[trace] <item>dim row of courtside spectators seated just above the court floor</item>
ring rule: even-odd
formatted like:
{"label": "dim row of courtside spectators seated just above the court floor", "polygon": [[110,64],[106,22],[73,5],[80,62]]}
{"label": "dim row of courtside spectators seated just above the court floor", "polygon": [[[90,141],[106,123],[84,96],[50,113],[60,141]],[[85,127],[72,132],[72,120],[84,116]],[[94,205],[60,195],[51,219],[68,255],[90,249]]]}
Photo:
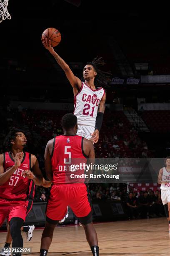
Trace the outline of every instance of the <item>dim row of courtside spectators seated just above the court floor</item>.
{"label": "dim row of courtside spectators seated just above the court floor", "polygon": [[[123,183],[113,184],[88,184],[92,202],[106,200],[120,200],[122,202],[127,218],[154,218],[165,216],[161,201],[160,189],[146,191],[129,187]],[[34,202],[47,201],[50,189],[37,187]]]}

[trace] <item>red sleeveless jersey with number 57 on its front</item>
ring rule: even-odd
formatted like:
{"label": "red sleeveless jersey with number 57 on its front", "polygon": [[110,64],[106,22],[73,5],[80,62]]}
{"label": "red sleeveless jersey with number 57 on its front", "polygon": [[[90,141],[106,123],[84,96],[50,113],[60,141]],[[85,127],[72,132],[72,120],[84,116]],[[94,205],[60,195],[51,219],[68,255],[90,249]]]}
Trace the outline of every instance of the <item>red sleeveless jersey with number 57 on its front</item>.
{"label": "red sleeveless jersey with number 57 on its front", "polygon": [[[14,159],[10,152],[4,153],[4,172],[14,165]],[[31,170],[31,154],[24,152],[21,165],[3,185],[0,186],[0,198],[7,200],[32,199],[35,184],[32,180],[23,175],[27,169]]]}

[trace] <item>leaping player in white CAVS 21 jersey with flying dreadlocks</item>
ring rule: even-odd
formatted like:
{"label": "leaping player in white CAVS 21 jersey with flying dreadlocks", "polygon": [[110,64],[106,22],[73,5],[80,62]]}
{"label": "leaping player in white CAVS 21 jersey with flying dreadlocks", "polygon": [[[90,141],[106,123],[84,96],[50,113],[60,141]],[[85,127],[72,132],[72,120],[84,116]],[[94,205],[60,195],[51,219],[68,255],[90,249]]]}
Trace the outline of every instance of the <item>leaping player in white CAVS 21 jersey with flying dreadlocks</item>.
{"label": "leaping player in white CAVS 21 jersey with flying dreadlocks", "polygon": [[78,120],[77,135],[91,139],[93,143],[97,143],[106,100],[106,93],[102,86],[105,86],[107,79],[110,77],[110,72],[103,72],[98,67],[104,65],[105,62],[101,58],[95,58],[92,62],[87,62],[83,69],[85,82],[82,82],[78,77],[75,77],[70,67],[54,51],[50,40],[47,42],[47,39],[43,38],[42,44],[54,56],[72,85],[75,107],[74,114]]}

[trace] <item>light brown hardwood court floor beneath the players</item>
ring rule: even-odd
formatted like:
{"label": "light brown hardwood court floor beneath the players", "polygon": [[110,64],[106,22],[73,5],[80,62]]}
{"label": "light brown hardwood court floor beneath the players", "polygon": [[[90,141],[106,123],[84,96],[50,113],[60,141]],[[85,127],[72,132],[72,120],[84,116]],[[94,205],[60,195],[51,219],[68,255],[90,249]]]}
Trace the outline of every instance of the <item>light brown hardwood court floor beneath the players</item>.
{"label": "light brown hardwood court floor beneath the players", "polygon": [[[97,231],[100,256],[167,256],[170,255],[170,235],[166,218],[128,220],[94,224]],[[30,242],[32,256],[39,256],[42,229],[36,229]],[[5,232],[0,233],[0,247],[4,245]],[[27,254],[28,255],[28,254]],[[55,228],[48,255],[92,256],[79,225]]]}

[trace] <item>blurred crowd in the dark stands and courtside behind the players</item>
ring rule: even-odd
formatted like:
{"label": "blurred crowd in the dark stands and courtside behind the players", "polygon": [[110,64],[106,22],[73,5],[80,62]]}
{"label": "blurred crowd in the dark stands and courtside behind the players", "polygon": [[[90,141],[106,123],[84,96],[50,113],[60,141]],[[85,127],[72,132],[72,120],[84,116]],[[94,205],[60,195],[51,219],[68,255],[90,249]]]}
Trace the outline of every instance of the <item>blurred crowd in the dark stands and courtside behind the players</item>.
{"label": "blurred crowd in the dark stands and courtside behind the players", "polygon": [[[24,129],[28,139],[28,150],[37,156],[43,176],[44,151],[47,141],[62,134],[61,118],[66,110],[30,110],[21,104],[17,109],[10,104],[0,109],[0,153],[4,152],[3,141],[10,127]],[[70,111],[72,112],[72,111]],[[107,132],[106,132],[107,131]],[[140,139],[138,131],[130,125],[123,111],[110,111],[106,108],[100,140],[95,145],[96,158],[150,158],[147,143]],[[146,191],[140,194],[128,189],[125,184],[89,184],[92,200],[121,200],[129,218],[141,218],[163,214],[160,192]],[[130,192],[130,193],[129,193]],[[37,187],[35,202],[47,201],[50,188]]]}

